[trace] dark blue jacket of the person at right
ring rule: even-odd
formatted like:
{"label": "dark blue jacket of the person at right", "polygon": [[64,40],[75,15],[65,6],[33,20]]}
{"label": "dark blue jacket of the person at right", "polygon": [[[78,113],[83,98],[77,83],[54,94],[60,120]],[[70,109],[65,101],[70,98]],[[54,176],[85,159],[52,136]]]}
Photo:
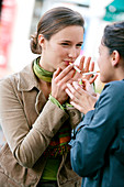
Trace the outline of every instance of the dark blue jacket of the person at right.
{"label": "dark blue jacket of the person at right", "polygon": [[70,145],[82,187],[124,187],[124,80],[105,85]]}

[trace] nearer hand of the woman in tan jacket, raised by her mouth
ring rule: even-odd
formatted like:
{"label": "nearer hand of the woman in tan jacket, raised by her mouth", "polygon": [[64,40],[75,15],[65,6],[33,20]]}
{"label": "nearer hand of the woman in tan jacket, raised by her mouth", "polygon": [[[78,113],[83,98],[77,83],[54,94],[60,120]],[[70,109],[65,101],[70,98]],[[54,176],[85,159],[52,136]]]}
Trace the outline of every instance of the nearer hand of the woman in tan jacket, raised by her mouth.
{"label": "nearer hand of the woman in tan jacket, raised by her mouth", "polygon": [[52,96],[63,105],[67,99],[68,95],[66,94],[65,89],[67,82],[72,82],[72,77],[76,70],[74,69],[72,65],[66,67],[63,72],[58,68],[52,79]]}

